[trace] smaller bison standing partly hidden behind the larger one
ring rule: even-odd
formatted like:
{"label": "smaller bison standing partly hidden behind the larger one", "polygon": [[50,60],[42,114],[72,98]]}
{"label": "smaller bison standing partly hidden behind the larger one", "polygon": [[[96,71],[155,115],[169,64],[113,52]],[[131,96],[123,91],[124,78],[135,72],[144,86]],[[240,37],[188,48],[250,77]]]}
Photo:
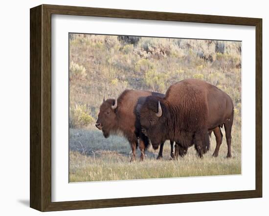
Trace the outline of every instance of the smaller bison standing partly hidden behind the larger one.
{"label": "smaller bison standing partly hidden behind the larger one", "polygon": [[[141,105],[147,96],[162,98],[164,94],[142,90],[125,90],[115,99],[103,100],[95,126],[103,131],[104,137],[110,134],[122,134],[130,143],[132,148],[131,161],[135,159],[135,150],[139,145],[141,151],[140,160],[144,159],[144,151],[149,146],[149,139],[141,133],[140,122],[136,115],[136,106]],[[139,144],[138,144],[139,139]],[[171,156],[174,156],[173,141],[171,145]],[[157,159],[162,157],[164,142],[160,143]]]}

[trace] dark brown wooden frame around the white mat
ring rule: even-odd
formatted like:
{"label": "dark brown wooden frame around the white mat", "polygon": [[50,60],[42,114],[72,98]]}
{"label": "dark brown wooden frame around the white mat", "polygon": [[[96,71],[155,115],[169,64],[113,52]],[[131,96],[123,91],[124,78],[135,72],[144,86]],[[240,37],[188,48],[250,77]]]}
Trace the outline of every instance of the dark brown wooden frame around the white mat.
{"label": "dark brown wooden frame around the white mat", "polygon": [[[255,26],[256,31],[256,188],[83,201],[51,201],[51,15]],[[262,19],[152,11],[40,5],[30,9],[30,207],[39,211],[137,206],[262,197]]]}

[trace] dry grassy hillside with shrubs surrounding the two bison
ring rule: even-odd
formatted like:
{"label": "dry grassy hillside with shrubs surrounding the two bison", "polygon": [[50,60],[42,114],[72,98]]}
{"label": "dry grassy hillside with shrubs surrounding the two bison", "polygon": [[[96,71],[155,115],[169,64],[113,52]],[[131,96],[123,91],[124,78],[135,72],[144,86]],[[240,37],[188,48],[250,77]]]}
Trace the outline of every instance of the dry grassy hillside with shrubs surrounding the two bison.
{"label": "dry grassy hillside with shrubs surrounding the two bison", "polygon": [[[70,34],[69,39],[70,181],[241,173],[240,42],[80,34]],[[130,164],[128,142],[121,137],[105,139],[95,129],[104,97],[116,98],[126,88],[165,93],[186,78],[205,80],[232,98],[231,160],[224,159],[225,138],[219,157],[211,157],[212,134],[212,152],[203,160],[191,148],[185,158],[169,161],[166,144],[163,160],[156,161],[157,152],[150,149],[145,163]]]}

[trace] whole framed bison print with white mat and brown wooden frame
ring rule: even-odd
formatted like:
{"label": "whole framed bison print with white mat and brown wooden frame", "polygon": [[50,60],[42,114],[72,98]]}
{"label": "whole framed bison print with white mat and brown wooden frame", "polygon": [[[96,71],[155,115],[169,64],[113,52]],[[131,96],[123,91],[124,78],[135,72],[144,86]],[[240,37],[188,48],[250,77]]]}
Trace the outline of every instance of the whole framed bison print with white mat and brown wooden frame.
{"label": "whole framed bison print with white mat and brown wooden frame", "polygon": [[30,207],[262,197],[262,19],[30,9]]}

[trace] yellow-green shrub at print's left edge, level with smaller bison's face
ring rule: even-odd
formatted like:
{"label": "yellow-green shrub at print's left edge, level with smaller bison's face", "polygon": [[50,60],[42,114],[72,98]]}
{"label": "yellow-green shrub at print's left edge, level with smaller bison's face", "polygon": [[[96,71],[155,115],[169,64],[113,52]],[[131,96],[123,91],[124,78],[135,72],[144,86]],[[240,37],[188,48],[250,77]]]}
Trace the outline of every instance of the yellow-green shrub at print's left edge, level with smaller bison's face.
{"label": "yellow-green shrub at print's left edge, level with smaller bison's face", "polygon": [[89,114],[86,105],[75,105],[69,108],[70,128],[82,128],[94,122]]}

